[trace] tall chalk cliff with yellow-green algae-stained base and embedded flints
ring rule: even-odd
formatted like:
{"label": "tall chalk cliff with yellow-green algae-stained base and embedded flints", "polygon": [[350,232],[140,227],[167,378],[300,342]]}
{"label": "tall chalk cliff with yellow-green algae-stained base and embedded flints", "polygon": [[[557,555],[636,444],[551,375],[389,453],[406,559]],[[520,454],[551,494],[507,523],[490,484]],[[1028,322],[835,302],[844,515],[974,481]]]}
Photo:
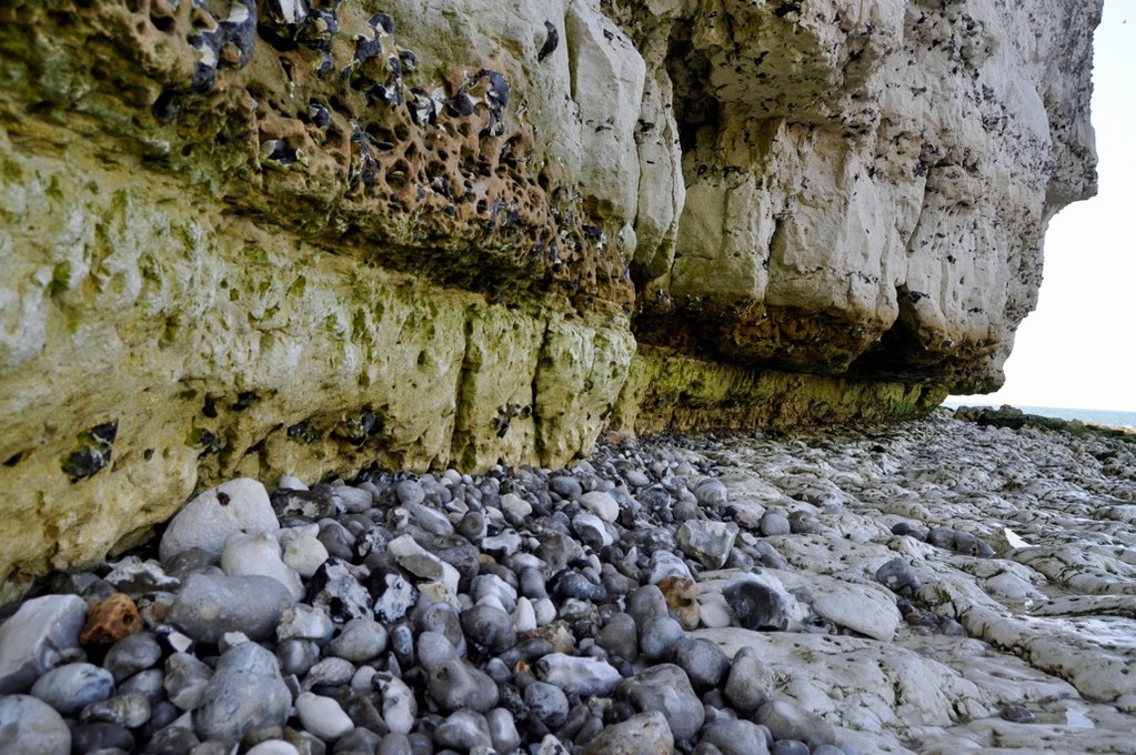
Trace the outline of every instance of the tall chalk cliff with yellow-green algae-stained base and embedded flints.
{"label": "tall chalk cliff with yellow-green algae-stained base and embedded flints", "polygon": [[0,598],[204,484],[995,388],[1099,0],[11,0]]}

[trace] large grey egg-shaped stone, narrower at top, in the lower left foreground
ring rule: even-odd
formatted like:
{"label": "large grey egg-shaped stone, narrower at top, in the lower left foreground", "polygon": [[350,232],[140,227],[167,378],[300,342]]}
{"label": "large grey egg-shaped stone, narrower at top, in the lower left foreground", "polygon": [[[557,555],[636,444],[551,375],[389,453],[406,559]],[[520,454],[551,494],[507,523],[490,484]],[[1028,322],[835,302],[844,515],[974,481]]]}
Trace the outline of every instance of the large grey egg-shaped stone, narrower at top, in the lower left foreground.
{"label": "large grey egg-shaped stone, narrower at top, in the lower left foreground", "polygon": [[284,725],[291,705],[276,656],[254,643],[243,643],[217,661],[200,706],[193,711],[193,725],[203,740],[235,741],[256,725]]}

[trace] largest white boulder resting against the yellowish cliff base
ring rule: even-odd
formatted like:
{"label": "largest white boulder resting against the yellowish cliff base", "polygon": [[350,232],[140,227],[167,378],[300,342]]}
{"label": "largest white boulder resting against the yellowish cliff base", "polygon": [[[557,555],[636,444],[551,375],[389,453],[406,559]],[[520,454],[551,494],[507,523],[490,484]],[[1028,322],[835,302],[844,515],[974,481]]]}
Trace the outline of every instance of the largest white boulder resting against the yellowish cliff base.
{"label": "largest white boulder resting against the yellowish cliff base", "polygon": [[242,477],[210,488],[185,504],[166,527],[158,555],[162,563],[194,547],[220,555],[229,535],[260,535],[277,526],[265,486]]}

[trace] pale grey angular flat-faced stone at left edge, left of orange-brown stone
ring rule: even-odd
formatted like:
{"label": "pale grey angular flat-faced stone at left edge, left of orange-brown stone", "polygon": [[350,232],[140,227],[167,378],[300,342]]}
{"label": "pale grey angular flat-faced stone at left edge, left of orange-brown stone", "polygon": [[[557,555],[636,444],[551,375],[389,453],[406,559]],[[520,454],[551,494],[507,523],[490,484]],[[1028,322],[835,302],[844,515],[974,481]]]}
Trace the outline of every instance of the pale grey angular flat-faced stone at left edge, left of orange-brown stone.
{"label": "pale grey angular flat-faced stone at left edge, left of orange-brown stone", "polygon": [[44,595],[20,605],[0,623],[0,695],[26,691],[44,671],[74,658],[85,621],[86,602],[77,595]]}

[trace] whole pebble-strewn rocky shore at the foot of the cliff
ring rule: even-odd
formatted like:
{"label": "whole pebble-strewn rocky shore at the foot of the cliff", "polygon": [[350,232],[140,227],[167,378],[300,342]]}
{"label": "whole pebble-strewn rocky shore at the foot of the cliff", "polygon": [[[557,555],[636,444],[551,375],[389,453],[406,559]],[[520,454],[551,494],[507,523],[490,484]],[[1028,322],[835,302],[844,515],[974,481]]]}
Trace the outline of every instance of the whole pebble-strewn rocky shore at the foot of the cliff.
{"label": "whole pebble-strewn rocky shore at the foot of the cliff", "polygon": [[1136,438],[980,416],[229,480],[8,606],[0,750],[1136,752]]}

